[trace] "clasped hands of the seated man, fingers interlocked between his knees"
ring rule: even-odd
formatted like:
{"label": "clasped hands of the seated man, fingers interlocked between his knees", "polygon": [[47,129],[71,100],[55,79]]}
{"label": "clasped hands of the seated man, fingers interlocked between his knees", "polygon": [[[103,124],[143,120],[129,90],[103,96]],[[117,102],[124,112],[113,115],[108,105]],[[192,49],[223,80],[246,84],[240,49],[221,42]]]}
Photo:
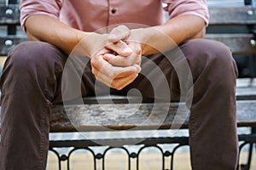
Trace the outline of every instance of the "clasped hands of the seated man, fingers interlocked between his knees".
{"label": "clasped hands of the seated man, fingers interlocked between his knees", "polygon": [[92,73],[110,88],[125,88],[141,71],[141,44],[131,40],[131,31],[126,26],[113,28],[102,44],[90,56]]}

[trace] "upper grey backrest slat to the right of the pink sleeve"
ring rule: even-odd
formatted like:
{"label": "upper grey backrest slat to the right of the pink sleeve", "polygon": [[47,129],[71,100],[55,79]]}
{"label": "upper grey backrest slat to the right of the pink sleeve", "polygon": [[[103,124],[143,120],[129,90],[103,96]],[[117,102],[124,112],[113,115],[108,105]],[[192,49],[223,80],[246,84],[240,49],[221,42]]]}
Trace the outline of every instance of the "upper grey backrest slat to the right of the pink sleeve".
{"label": "upper grey backrest slat to the right of the pink sleeve", "polygon": [[210,25],[253,25],[256,22],[252,6],[209,8]]}

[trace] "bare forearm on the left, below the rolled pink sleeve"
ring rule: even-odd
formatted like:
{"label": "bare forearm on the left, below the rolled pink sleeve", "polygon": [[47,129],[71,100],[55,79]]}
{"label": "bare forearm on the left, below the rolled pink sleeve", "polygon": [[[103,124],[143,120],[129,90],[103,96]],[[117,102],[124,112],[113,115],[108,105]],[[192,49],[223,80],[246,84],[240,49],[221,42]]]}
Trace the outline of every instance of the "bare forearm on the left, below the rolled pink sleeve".
{"label": "bare forearm on the left, below the rolled pink sleeve", "polygon": [[[84,37],[90,35],[90,32],[73,29],[44,14],[32,15],[26,20],[25,26],[30,40],[49,42],[66,54],[70,54]],[[90,54],[88,50],[84,50],[84,53]]]}

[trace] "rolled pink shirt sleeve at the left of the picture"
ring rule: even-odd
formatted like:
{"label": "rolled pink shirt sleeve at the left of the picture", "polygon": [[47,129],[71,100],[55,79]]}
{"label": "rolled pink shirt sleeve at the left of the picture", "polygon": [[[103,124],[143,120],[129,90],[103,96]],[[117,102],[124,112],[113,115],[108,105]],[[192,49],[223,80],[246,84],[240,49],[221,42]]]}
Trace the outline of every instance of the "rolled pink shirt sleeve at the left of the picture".
{"label": "rolled pink shirt sleeve at the left of the picture", "polygon": [[26,19],[33,14],[47,14],[59,19],[62,0],[20,0],[20,25],[24,29]]}

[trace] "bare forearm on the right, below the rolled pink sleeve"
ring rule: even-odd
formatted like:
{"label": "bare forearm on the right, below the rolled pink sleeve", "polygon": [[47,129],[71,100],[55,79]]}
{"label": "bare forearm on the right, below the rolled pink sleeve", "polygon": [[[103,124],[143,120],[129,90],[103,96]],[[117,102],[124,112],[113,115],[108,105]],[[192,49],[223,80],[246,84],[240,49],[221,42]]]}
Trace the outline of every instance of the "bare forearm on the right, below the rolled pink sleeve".
{"label": "bare forearm on the right, below the rolled pink sleeve", "polygon": [[175,47],[189,39],[205,35],[205,22],[195,15],[178,16],[164,25],[131,31],[142,43],[143,54],[154,54]]}

